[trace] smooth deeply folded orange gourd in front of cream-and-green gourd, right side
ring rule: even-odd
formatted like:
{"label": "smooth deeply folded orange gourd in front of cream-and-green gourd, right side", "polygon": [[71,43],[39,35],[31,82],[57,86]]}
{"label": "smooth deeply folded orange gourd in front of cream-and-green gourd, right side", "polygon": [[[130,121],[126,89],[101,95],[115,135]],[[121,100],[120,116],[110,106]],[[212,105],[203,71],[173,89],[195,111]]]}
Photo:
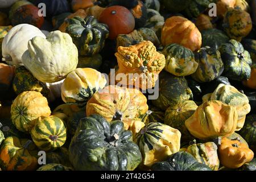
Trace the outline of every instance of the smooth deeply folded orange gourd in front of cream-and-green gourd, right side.
{"label": "smooth deeply folded orange gourd in front of cream-and-green gourd, right side", "polygon": [[194,137],[207,140],[233,134],[237,119],[236,107],[221,101],[207,101],[197,107],[195,113],[185,121],[185,126]]}

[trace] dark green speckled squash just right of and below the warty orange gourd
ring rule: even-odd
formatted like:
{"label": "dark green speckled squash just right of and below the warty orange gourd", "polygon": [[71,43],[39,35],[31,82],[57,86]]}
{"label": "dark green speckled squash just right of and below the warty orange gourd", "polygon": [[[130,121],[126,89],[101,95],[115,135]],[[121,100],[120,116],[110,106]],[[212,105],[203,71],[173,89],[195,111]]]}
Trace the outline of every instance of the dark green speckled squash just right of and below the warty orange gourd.
{"label": "dark green speckled squash just right of and below the warty orange gourd", "polygon": [[162,71],[159,74],[159,97],[152,104],[165,111],[170,105],[180,100],[191,100],[193,94],[184,77]]}

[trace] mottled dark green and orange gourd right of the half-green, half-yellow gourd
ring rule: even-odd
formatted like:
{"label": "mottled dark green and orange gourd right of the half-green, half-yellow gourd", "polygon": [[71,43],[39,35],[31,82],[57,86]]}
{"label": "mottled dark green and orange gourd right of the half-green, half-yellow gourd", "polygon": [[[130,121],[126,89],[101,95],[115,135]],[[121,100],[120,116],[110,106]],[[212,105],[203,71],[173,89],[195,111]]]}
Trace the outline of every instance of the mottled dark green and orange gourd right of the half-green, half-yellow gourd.
{"label": "mottled dark green and orange gourd right of the half-green, half-yellow gourd", "polygon": [[199,63],[199,66],[191,76],[198,82],[212,81],[224,71],[221,54],[215,48],[201,48],[195,53],[195,60]]}

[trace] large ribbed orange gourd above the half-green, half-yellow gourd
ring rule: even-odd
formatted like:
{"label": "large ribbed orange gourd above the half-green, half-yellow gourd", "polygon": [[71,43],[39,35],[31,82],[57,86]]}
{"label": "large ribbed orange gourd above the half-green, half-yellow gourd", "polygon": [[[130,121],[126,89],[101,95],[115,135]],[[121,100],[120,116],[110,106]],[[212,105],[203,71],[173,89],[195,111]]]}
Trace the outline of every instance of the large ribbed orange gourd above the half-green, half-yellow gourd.
{"label": "large ribbed orange gourd above the half-green, half-yellow gourd", "polygon": [[201,48],[202,36],[194,23],[182,16],[172,16],[164,22],[162,28],[162,44],[180,44],[192,51]]}

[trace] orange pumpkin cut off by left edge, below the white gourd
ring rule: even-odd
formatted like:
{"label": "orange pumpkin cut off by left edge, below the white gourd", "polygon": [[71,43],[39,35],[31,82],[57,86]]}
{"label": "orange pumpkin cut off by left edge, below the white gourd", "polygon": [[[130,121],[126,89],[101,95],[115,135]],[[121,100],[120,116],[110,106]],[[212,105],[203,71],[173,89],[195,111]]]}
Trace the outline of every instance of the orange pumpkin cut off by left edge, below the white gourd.
{"label": "orange pumpkin cut off by left edge, below the white gourd", "polygon": [[0,63],[0,92],[7,92],[15,75],[15,67]]}

